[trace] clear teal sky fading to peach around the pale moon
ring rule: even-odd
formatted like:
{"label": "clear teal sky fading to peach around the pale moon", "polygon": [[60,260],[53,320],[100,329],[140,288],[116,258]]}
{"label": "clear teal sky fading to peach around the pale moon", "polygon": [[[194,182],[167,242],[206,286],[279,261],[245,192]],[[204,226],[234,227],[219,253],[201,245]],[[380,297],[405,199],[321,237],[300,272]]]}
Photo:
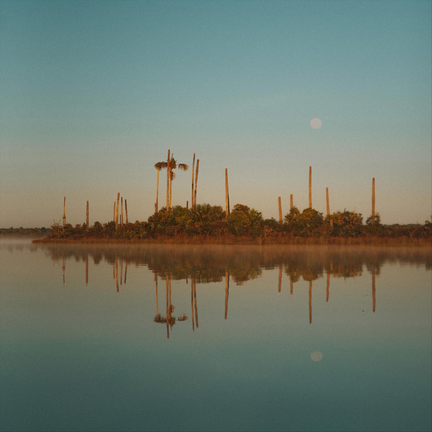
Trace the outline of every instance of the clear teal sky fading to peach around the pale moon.
{"label": "clear teal sky fading to peach around the pale moon", "polygon": [[[197,203],[432,214],[430,1],[0,1],[0,227]],[[313,118],[322,126],[314,129]],[[159,182],[165,205],[166,172]],[[191,201],[191,168],[172,205]]]}

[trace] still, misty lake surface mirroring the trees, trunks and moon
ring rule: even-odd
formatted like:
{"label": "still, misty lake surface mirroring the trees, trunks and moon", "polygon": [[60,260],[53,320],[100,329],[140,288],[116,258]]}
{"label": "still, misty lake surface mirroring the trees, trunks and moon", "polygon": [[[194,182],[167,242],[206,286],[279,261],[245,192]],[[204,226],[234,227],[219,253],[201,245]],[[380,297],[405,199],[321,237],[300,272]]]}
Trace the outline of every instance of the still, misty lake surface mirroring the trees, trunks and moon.
{"label": "still, misty lake surface mirroring the trees, trunks and moon", "polygon": [[3,431],[429,431],[429,248],[0,243]]}

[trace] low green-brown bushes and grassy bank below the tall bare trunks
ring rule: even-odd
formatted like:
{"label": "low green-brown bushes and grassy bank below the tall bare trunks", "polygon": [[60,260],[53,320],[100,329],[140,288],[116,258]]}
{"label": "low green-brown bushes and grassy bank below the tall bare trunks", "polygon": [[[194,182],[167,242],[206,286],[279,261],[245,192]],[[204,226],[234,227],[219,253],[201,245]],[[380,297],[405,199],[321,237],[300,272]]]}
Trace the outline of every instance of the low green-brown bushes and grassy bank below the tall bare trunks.
{"label": "low green-brown bushes and grassy bank below the tall bare trunks", "polygon": [[[149,217],[147,222],[136,221],[118,225],[115,222],[95,222],[88,227],[86,224],[66,224],[64,228],[55,223],[47,230],[47,238],[51,239],[157,239],[157,238],[187,238],[187,237],[249,237],[249,238],[425,238],[432,235],[432,224],[426,221],[424,225],[382,225],[380,216],[372,216],[363,223],[361,213],[354,211],[338,211],[323,216],[313,208],[302,212],[295,206],[280,223],[274,218],[263,219],[262,213],[242,204],[236,204],[226,217],[221,206],[198,204],[193,209],[175,206],[167,213],[162,207],[158,213]],[[288,242],[288,241],[281,241]],[[258,241],[259,243],[259,241]]]}

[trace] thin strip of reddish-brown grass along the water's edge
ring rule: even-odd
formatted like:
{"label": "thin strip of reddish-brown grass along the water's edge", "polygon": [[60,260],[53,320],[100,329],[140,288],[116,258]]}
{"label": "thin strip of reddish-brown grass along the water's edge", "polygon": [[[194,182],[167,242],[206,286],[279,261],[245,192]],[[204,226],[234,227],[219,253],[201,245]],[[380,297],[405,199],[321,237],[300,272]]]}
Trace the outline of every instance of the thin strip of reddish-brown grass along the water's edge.
{"label": "thin strip of reddish-brown grass along the water's edge", "polygon": [[390,246],[390,247],[432,247],[432,238],[392,237],[158,237],[143,239],[123,238],[37,238],[35,244],[176,244],[176,245],[339,245],[339,246]]}

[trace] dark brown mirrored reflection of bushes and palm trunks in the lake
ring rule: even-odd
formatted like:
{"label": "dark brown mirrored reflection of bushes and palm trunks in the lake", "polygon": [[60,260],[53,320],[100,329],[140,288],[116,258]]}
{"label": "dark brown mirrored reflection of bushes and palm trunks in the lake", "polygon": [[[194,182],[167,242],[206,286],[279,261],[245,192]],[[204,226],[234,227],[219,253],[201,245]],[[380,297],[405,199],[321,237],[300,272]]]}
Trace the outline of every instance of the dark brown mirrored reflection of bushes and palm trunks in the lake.
{"label": "dark brown mirrored reflection of bushes and palm trunks in the lake", "polygon": [[[21,247],[21,246],[20,246]],[[428,248],[359,248],[359,247],[256,247],[256,246],[107,246],[107,245],[59,245],[41,246],[45,254],[61,266],[63,283],[67,260],[82,262],[88,283],[89,259],[93,264],[108,263],[112,266],[117,292],[127,281],[128,266],[146,266],[154,273],[156,291],[156,315],[154,321],[166,325],[167,337],[176,323],[191,318],[192,331],[198,328],[197,284],[222,282],[225,279],[225,319],[228,318],[229,279],[236,285],[253,280],[263,269],[278,269],[277,291],[281,292],[283,275],[288,276],[290,294],[294,284],[304,280],[309,284],[309,323],[312,323],[313,281],[326,278],[326,302],[330,299],[332,278],[351,278],[371,274],[372,304],[376,311],[376,281],[381,267],[386,263],[411,264],[432,268],[432,254]],[[13,248],[9,249],[13,252]],[[32,251],[35,247],[32,246]],[[67,273],[67,270],[66,270]],[[277,278],[277,276],[275,276]],[[191,316],[175,316],[172,304],[172,280],[191,283]],[[161,314],[158,299],[158,281],[165,282],[165,314]],[[275,280],[276,286],[276,280]],[[223,300],[222,300],[223,301]],[[184,324],[181,324],[184,325]]]}

